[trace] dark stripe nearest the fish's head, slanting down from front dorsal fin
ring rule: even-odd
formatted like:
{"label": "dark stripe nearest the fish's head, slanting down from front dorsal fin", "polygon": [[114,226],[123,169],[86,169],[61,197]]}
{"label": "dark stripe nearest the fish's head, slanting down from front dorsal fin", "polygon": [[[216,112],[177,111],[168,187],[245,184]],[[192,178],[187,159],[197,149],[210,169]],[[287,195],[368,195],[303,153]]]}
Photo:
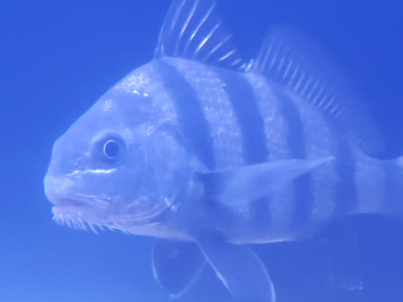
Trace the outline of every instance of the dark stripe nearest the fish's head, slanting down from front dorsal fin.
{"label": "dark stripe nearest the fish's head, slanting down from front dorsal fin", "polygon": [[158,60],[162,85],[172,100],[180,129],[194,155],[210,170],[216,168],[213,137],[200,101],[182,74],[168,63]]}

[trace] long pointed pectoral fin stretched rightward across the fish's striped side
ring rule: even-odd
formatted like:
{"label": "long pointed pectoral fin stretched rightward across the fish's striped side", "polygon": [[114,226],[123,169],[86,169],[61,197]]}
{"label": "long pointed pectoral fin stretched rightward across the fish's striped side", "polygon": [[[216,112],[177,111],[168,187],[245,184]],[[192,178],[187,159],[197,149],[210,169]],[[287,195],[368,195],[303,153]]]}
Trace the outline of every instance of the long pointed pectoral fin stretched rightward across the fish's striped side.
{"label": "long pointed pectoral fin stretched rightward across the fish's striped side", "polygon": [[333,159],[279,160],[199,173],[197,178],[203,183],[207,198],[223,203],[244,202],[267,196],[287,182]]}

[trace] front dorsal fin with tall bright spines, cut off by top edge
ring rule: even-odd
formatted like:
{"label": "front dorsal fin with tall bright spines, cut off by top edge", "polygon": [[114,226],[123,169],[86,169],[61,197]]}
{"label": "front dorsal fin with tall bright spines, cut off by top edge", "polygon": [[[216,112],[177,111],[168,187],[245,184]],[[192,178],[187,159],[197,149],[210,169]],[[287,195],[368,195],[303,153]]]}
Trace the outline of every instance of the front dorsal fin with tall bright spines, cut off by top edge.
{"label": "front dorsal fin with tall bright spines, cut off by top edge", "polygon": [[174,0],[162,25],[155,58],[181,57],[238,69],[245,66],[231,45],[213,0]]}

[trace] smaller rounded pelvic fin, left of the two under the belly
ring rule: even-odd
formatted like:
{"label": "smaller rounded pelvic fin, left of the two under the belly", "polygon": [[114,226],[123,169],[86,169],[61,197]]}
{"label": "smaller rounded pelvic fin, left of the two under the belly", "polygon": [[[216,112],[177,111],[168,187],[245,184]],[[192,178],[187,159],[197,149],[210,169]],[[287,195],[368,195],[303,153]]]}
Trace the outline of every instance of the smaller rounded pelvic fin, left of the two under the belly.
{"label": "smaller rounded pelvic fin, left of the two under the belly", "polygon": [[154,277],[171,297],[185,293],[206,263],[195,243],[160,238],[155,239],[152,261]]}

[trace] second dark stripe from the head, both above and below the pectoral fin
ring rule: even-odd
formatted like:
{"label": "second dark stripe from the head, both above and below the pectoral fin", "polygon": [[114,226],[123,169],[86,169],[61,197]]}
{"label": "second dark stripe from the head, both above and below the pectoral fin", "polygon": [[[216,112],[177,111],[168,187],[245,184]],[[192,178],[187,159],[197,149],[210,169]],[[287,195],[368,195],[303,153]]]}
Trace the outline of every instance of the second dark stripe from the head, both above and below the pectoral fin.
{"label": "second dark stripe from the head, both above and below the pectoral fin", "polygon": [[[242,134],[242,154],[245,164],[268,160],[263,116],[257,105],[253,88],[241,73],[214,68],[231,102]],[[250,188],[253,190],[253,188]],[[266,232],[271,221],[270,198],[253,200],[249,206],[250,225],[254,232]]]}

